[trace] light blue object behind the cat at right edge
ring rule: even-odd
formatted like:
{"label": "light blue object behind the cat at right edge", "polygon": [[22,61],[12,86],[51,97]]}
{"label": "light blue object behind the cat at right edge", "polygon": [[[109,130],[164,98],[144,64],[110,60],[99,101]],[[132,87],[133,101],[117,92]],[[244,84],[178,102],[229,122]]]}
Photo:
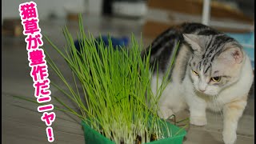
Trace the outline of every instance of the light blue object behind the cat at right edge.
{"label": "light blue object behind the cat at right edge", "polygon": [[244,34],[228,33],[227,35],[237,40],[243,46],[254,69],[254,32]]}

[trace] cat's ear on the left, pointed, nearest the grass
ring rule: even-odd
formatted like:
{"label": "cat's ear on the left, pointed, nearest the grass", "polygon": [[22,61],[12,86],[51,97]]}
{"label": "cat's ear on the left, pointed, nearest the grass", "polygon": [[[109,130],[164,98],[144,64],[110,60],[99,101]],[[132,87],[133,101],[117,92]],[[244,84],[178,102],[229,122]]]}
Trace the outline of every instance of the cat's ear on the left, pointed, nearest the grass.
{"label": "cat's ear on the left, pointed, nearest the grass", "polygon": [[200,36],[195,34],[182,34],[184,40],[190,44],[191,48],[196,52],[201,52],[202,47],[200,46]]}

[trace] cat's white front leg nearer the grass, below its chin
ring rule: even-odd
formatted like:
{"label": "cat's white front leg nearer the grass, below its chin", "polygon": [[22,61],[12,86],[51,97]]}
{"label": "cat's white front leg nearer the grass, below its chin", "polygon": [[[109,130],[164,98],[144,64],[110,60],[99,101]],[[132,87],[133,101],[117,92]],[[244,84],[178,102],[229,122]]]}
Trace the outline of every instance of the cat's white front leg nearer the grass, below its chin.
{"label": "cat's white front leg nearer the grass, below its chin", "polygon": [[201,98],[194,97],[188,102],[190,106],[190,124],[195,126],[205,126],[206,119],[206,102]]}

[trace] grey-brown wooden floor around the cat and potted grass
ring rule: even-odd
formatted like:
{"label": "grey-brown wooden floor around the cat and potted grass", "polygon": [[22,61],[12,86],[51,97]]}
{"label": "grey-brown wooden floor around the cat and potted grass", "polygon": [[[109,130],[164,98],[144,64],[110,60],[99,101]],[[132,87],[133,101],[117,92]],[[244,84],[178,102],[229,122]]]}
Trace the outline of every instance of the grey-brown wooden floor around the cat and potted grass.
{"label": "grey-brown wooden floor around the cat and potted grass", "polygon": [[[110,33],[114,36],[130,35],[134,32],[140,38],[142,23],[136,20],[123,20],[121,18],[98,18],[85,17],[84,25],[94,36],[99,33]],[[41,21],[42,34],[49,36],[57,46],[64,46],[65,40],[62,35],[62,27],[67,24],[70,32],[75,35],[78,30],[77,22],[66,22],[65,20]],[[25,102],[12,95],[23,95],[34,98],[33,81],[30,77],[30,67],[27,60],[25,38],[2,37],[2,143],[4,144],[46,144],[46,124],[41,121],[41,113],[37,112],[37,105]],[[46,51],[52,55],[54,61],[60,64],[66,78],[70,78],[70,71],[64,65],[64,61],[54,52],[52,47],[44,41]],[[145,44],[150,39],[143,39]],[[62,86],[63,84],[49,70],[51,82]],[[62,98],[62,94],[50,86],[52,95]],[[35,99],[35,98],[34,98]],[[254,143],[254,89],[252,90],[246,111],[238,126],[237,144]],[[57,102],[51,100],[57,106]],[[78,118],[54,110],[57,115],[53,123],[53,143],[59,144],[82,144],[84,142],[83,130]],[[187,117],[188,113],[182,113]],[[186,135],[185,144],[221,144],[222,142],[222,117],[220,114],[207,112],[207,126],[190,126]]]}

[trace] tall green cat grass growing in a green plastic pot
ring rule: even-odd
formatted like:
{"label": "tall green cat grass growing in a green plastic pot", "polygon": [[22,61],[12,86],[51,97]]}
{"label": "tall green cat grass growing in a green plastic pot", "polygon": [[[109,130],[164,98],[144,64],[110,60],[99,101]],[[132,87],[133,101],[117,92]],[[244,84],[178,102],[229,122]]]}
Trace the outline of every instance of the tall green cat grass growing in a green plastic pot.
{"label": "tall green cat grass growing in a green plastic pot", "polygon": [[[111,41],[105,46],[90,34],[85,34],[81,15],[80,50],[74,46],[67,28],[63,32],[67,43],[65,52],[45,38],[66,60],[75,88],[64,78],[47,50],[46,61],[67,89],[54,82],[51,84],[74,102],[80,112],[70,108],[61,98],[52,97],[63,106],[56,109],[81,119],[86,143],[182,143],[186,135],[184,128],[163,121],[157,114],[158,99],[168,82],[167,76],[163,78],[158,94],[154,95],[150,88],[150,54],[141,57],[142,46],[134,37],[128,48],[115,50]],[[82,88],[82,93],[78,87]]]}

